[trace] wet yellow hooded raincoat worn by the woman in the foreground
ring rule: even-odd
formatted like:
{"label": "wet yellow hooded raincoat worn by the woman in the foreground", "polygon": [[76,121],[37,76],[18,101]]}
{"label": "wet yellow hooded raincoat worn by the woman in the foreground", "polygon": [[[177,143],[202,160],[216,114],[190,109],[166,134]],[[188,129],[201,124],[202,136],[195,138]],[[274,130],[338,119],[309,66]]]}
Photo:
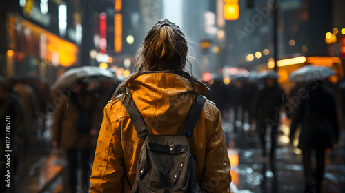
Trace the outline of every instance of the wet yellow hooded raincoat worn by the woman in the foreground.
{"label": "wet yellow hooded raincoat worn by the woman in the foreground", "polygon": [[[128,83],[128,88],[152,134],[182,135],[193,102],[193,83],[177,74],[158,72],[141,74]],[[209,90],[197,83],[195,91],[203,94]],[[204,103],[188,142],[196,158],[201,191],[230,192],[230,161],[220,113],[214,103]],[[130,192],[142,143],[121,101],[110,101],[104,108],[90,192]]]}

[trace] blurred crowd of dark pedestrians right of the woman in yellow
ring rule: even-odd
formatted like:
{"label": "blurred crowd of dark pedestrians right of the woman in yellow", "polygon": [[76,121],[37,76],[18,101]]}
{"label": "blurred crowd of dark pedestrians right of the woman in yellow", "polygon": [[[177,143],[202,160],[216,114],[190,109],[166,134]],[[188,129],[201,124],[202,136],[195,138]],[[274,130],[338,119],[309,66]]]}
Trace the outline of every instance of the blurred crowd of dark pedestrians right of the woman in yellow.
{"label": "blurred crowd of dark pedestrians right of the woman in yellow", "polygon": [[[270,147],[269,160],[275,172],[274,158],[277,133],[282,117],[290,123],[290,143],[295,141],[295,132],[300,129],[299,144],[306,179],[306,192],[320,192],[324,174],[324,158],[327,148],[335,148],[339,139],[339,125],[344,117],[344,83],[333,85],[327,79],[306,83],[295,83],[286,93],[277,79],[233,79],[229,85],[214,81],[210,85],[208,98],[215,102],[224,119],[230,110],[235,111],[233,126],[242,133],[255,125],[255,134],[261,141],[262,158]],[[218,84],[218,85],[215,85]],[[221,92],[219,92],[221,90]],[[219,95],[219,93],[222,93]],[[337,114],[342,111],[342,116]],[[284,115],[282,115],[284,114]],[[254,128],[254,127],[253,127]],[[270,145],[266,145],[266,130],[270,131]],[[311,157],[315,152],[316,168],[313,170]]]}

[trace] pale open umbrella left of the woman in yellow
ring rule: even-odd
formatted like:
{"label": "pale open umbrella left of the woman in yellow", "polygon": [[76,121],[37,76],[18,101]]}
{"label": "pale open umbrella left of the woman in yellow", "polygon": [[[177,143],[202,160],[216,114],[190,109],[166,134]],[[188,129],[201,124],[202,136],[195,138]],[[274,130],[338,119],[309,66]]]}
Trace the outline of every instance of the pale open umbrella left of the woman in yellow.
{"label": "pale open umbrella left of the woman in yellow", "polygon": [[76,81],[83,81],[84,83],[102,82],[102,81],[117,81],[115,74],[108,70],[101,69],[96,66],[83,66],[79,68],[72,68],[55,81],[51,90],[68,88],[70,83]]}

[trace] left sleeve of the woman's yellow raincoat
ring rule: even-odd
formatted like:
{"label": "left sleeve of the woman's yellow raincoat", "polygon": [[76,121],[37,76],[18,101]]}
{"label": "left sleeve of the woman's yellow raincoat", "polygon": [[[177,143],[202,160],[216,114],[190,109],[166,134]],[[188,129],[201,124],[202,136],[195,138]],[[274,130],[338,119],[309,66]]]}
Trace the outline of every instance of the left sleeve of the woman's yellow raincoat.
{"label": "left sleeve of the woman's yellow raincoat", "polygon": [[[115,128],[116,129],[116,128]],[[95,159],[90,177],[92,192],[121,192],[124,174],[123,157],[119,136],[110,121],[110,106],[104,108],[104,117],[97,140]]]}

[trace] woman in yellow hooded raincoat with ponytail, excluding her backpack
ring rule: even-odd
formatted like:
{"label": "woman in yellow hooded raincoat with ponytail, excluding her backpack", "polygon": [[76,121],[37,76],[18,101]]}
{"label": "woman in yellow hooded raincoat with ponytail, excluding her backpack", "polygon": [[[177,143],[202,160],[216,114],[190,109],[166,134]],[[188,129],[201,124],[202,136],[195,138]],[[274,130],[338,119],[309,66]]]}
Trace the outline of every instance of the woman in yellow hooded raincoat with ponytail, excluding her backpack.
{"label": "woman in yellow hooded raincoat with ponytail, excluding her backpack", "polygon": [[[151,134],[181,135],[195,94],[208,92],[203,83],[184,72],[188,60],[186,37],[175,23],[163,19],[150,29],[142,45],[135,74],[122,86],[128,86]],[[116,94],[122,92],[117,89]],[[90,192],[131,191],[143,144],[136,133],[126,108],[114,97],[104,108]],[[224,131],[219,110],[210,101],[204,103],[188,142],[196,158],[201,190],[230,192],[230,161]]]}

